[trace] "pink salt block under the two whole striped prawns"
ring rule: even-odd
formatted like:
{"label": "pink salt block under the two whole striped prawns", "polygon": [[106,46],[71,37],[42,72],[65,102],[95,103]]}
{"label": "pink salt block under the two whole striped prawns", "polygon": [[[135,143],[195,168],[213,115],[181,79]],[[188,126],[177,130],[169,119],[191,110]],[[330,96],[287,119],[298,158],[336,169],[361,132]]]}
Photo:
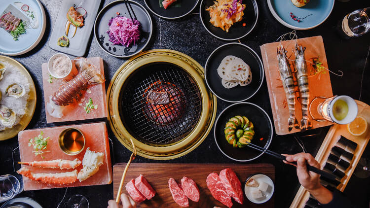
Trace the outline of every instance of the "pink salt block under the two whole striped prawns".
{"label": "pink salt block under the two whole striped prawns", "polygon": [[[281,44],[284,46],[285,50],[288,51],[287,57],[290,60],[295,59],[294,47],[296,45],[296,41],[298,42],[298,44],[301,44],[303,47],[306,47],[305,59],[307,60],[306,64],[308,73],[308,87],[310,90],[309,98],[310,102],[315,97],[319,96],[323,96],[326,98],[332,97],[333,90],[332,83],[330,82],[329,71],[326,71],[325,73],[322,73],[320,75],[313,75],[311,72],[313,67],[312,64],[309,63],[312,62],[312,58],[318,57],[322,63],[322,66],[330,69],[330,67],[328,67],[328,62],[326,60],[323,37],[314,36],[299,38],[297,40],[282,41]],[[278,71],[278,61],[276,55],[276,49],[279,45],[280,45],[279,42],[272,42],[263,44],[260,46],[260,48],[263,66],[266,74],[266,82],[268,87],[268,94],[270,97],[272,115],[274,117],[275,131],[277,135],[286,135],[299,132],[300,129],[293,128],[291,132],[288,131],[289,109],[288,105],[286,104],[286,96],[283,88],[283,83],[280,79],[280,74]],[[290,64],[292,64],[292,61],[290,61]],[[302,111],[300,102],[297,99],[299,97],[298,87],[295,86],[295,89],[296,89],[296,119],[300,124],[300,120],[302,118]],[[322,102],[323,100],[320,101]],[[312,111],[315,110],[316,110],[315,106],[312,106]],[[328,121],[317,122],[315,120],[312,120],[310,115],[308,115],[308,117],[310,118],[314,129],[332,125],[331,122]]]}

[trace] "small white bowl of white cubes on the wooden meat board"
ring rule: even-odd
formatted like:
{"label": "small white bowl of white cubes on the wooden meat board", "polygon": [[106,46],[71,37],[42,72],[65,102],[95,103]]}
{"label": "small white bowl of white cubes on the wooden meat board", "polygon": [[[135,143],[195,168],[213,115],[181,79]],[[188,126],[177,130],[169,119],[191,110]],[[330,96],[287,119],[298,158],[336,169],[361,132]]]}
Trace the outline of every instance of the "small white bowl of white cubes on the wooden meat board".
{"label": "small white bowl of white cubes on the wooden meat board", "polygon": [[[253,199],[252,198],[252,194],[251,194],[252,189],[258,189],[258,187],[247,186],[247,182],[252,178],[255,179],[259,183],[263,181],[263,182],[268,184],[269,187],[268,187],[267,191],[262,192],[262,194],[264,195],[263,198],[259,198],[259,199]],[[265,174],[254,174],[254,175],[250,176],[249,178],[247,178],[247,180],[244,183],[244,194],[245,194],[245,196],[248,198],[249,201],[251,201],[255,204],[262,204],[262,203],[265,203],[268,200],[270,200],[272,195],[274,194],[274,190],[275,190],[274,182],[271,180],[271,178],[269,176],[267,176]]]}

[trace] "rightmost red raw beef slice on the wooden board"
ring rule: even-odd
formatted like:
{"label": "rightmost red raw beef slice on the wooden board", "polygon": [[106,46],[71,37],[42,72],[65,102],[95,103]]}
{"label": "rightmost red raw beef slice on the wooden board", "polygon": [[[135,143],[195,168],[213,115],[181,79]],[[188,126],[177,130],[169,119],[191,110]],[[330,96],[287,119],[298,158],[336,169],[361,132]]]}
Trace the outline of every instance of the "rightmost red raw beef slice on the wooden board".
{"label": "rightmost red raw beef slice on the wooden board", "polygon": [[235,172],[230,168],[223,169],[220,172],[220,179],[225,187],[228,195],[232,197],[237,203],[243,204],[242,184],[236,176]]}

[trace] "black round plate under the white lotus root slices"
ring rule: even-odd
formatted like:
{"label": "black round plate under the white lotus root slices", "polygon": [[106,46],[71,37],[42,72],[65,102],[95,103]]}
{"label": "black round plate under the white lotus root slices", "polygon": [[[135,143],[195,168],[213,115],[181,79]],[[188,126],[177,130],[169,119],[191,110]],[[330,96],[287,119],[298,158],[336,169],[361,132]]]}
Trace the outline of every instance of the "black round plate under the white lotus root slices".
{"label": "black round plate under the white lotus root slices", "polygon": [[[237,85],[226,89],[222,86],[222,78],[217,73],[221,61],[226,56],[236,56],[248,64],[252,71],[252,83],[247,86]],[[238,103],[254,96],[262,85],[264,70],[257,53],[250,47],[241,43],[227,43],[218,47],[208,57],[205,69],[206,83],[213,94],[223,101]]]}

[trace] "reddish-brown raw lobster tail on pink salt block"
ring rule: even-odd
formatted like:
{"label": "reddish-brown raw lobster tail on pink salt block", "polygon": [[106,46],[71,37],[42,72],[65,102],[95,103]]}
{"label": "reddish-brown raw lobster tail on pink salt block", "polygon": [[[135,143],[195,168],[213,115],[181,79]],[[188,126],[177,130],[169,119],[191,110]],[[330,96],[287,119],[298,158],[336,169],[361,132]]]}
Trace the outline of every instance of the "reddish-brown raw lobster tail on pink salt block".
{"label": "reddish-brown raw lobster tail on pink salt block", "polygon": [[86,90],[91,85],[100,84],[105,81],[100,69],[90,64],[85,58],[77,58],[74,61],[78,74],[70,81],[64,83],[54,93],[51,100],[56,105],[69,105],[78,100],[81,91]]}

